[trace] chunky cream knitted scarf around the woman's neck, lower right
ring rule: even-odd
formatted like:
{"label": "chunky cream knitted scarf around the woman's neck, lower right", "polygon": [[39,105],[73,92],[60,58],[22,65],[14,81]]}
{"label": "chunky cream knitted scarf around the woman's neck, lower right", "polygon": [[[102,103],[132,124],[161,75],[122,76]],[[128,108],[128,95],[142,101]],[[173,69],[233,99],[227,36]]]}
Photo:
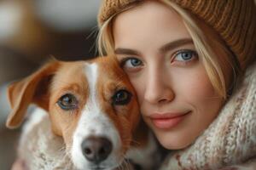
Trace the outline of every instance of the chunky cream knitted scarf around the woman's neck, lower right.
{"label": "chunky cream knitted scarf around the woman's neck, lower right", "polygon": [[172,152],[161,170],[256,169],[255,63],[232,95],[195,143]]}

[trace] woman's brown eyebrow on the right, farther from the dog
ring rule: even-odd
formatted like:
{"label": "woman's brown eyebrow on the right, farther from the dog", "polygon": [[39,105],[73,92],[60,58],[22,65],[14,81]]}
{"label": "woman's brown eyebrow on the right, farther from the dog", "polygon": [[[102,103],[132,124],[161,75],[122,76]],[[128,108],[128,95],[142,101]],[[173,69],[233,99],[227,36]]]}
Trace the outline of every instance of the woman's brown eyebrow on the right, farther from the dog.
{"label": "woman's brown eyebrow on the right, farther from the dog", "polygon": [[177,48],[189,43],[193,43],[193,40],[191,38],[183,38],[183,39],[175,40],[173,42],[168,42],[160,48],[160,52],[166,53],[169,50],[172,50],[174,48]]}

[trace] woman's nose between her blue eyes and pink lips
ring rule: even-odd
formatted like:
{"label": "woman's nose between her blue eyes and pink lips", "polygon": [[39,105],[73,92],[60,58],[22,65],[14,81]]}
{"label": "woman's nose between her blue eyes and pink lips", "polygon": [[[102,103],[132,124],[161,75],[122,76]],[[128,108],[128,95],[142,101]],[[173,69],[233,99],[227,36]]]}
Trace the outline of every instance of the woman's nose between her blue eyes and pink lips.
{"label": "woman's nose between her blue eyes and pink lips", "polygon": [[160,74],[151,74],[145,83],[144,99],[152,104],[165,104],[174,99],[172,84],[168,77]]}

